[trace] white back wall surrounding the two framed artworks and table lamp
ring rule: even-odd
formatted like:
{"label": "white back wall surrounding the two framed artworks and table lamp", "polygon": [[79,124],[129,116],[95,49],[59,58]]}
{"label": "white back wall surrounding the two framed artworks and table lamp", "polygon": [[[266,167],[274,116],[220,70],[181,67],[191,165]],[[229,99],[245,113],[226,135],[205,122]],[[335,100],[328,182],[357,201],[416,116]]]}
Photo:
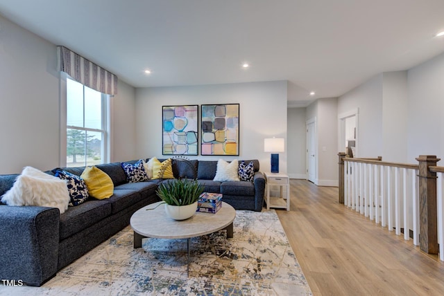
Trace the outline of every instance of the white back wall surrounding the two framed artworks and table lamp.
{"label": "white back wall surrounding the two framed artworks and table lamp", "polygon": [[[239,103],[239,156],[189,156],[190,159],[258,159],[270,170],[264,138],[285,138],[287,145],[287,82],[251,82],[205,86],[155,87],[136,90],[137,156],[162,156],[162,106]],[[199,136],[200,139],[200,136]],[[280,153],[280,171],[287,172],[287,150]],[[200,151],[200,148],[199,148]]]}

